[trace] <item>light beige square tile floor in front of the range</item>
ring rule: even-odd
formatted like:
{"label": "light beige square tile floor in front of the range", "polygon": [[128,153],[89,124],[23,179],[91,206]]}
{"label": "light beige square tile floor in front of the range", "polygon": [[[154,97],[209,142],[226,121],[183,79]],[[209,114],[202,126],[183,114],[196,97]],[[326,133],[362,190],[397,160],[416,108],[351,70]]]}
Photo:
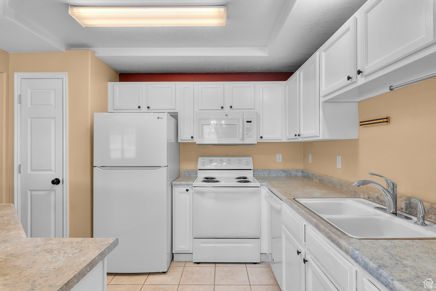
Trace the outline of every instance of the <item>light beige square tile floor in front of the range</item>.
{"label": "light beige square tile floor in front of the range", "polygon": [[167,273],[108,273],[107,291],[280,291],[271,266],[171,262]]}

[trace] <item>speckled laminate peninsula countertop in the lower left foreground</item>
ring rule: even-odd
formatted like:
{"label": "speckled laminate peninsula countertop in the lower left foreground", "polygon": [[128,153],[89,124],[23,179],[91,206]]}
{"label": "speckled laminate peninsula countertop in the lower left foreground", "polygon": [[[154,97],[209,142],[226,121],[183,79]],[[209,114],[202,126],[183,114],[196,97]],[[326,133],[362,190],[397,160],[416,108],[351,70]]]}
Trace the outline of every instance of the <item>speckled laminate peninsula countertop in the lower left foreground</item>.
{"label": "speckled laminate peninsula countertop in the lower left foreground", "polygon": [[14,205],[0,204],[0,290],[71,290],[117,245],[113,238],[27,238]]}

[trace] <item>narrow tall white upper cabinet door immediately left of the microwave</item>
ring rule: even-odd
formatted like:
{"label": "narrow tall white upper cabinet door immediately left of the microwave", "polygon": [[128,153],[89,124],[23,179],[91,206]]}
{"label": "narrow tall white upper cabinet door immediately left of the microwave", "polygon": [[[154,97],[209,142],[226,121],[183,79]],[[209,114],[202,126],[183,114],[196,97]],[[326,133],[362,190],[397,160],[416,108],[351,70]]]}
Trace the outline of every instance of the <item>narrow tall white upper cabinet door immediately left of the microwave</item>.
{"label": "narrow tall white upper cabinet door immediately left of the microwave", "polygon": [[195,142],[194,84],[180,84],[179,141]]}

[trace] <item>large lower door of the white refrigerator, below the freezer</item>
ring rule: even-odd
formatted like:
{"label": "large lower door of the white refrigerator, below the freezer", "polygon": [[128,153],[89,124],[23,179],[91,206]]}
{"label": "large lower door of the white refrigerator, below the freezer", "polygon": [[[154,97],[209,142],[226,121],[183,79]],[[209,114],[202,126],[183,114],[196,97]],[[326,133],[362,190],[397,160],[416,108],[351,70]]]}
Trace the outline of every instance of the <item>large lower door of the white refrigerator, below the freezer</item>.
{"label": "large lower door of the white refrigerator, below the freezer", "polygon": [[107,256],[109,273],[165,272],[171,253],[168,168],[134,169],[94,168],[94,237],[119,240]]}

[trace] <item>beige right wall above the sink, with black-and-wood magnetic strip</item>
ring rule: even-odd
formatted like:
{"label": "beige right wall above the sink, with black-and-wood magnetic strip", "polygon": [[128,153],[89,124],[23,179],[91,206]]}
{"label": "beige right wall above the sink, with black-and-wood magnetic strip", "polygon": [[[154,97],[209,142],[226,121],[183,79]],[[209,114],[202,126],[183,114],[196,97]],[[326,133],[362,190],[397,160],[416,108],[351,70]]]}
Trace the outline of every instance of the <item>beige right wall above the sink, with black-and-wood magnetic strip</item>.
{"label": "beige right wall above the sink, with black-and-wood magnetic strip", "polygon": [[403,195],[436,202],[436,78],[359,102],[359,120],[384,116],[391,123],[359,128],[358,140],[303,143],[304,169],[384,185],[368,175],[374,172],[395,181]]}

